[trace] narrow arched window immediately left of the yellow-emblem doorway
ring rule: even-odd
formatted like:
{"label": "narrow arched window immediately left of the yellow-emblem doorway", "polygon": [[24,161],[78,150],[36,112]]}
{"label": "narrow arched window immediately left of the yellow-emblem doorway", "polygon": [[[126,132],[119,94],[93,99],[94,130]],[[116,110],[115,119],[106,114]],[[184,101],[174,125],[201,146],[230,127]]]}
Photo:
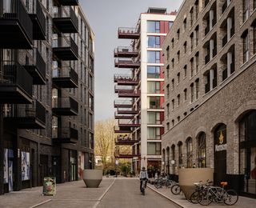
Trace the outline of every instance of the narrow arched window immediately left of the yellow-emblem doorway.
{"label": "narrow arched window immediately left of the yellow-emblem doorway", "polygon": [[198,167],[206,167],[206,133],[198,136]]}

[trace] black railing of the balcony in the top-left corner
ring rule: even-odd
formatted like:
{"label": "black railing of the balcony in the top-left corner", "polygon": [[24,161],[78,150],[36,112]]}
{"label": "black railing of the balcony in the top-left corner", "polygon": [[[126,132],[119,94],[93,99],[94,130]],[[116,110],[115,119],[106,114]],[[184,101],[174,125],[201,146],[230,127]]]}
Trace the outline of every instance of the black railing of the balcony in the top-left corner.
{"label": "black railing of the balcony in the top-left corner", "polygon": [[32,42],[33,23],[21,0],[0,0],[0,18],[18,20]]}

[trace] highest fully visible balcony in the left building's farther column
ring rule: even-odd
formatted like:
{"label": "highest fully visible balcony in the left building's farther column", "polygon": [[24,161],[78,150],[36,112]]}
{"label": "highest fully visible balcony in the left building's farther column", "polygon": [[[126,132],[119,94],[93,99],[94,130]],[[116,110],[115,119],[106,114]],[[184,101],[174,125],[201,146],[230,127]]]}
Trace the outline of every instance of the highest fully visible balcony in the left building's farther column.
{"label": "highest fully visible balcony in the left building's farther column", "polygon": [[54,8],[57,8],[53,18],[54,26],[63,34],[78,33],[78,17],[74,10],[71,7],[69,10],[65,10],[64,7]]}

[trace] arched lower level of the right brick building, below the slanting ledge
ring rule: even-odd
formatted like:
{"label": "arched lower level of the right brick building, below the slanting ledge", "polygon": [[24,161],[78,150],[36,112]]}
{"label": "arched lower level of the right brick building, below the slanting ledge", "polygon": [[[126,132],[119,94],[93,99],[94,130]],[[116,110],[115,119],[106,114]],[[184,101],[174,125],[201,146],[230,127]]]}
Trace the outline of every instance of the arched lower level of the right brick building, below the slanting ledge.
{"label": "arched lower level of the right brick building, below the slanting ledge", "polygon": [[[229,182],[256,198],[256,74],[247,69],[162,138],[162,168],[211,167],[214,183]],[[218,89],[215,89],[218,90]]]}

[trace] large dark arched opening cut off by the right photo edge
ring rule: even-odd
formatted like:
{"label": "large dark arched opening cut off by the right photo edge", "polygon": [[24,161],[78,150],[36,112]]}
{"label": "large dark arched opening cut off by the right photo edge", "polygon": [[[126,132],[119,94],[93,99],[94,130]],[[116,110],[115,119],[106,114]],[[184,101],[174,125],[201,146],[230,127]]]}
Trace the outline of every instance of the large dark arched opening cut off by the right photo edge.
{"label": "large dark arched opening cut off by the right photo edge", "polygon": [[239,122],[239,174],[243,175],[240,191],[256,197],[256,110]]}

